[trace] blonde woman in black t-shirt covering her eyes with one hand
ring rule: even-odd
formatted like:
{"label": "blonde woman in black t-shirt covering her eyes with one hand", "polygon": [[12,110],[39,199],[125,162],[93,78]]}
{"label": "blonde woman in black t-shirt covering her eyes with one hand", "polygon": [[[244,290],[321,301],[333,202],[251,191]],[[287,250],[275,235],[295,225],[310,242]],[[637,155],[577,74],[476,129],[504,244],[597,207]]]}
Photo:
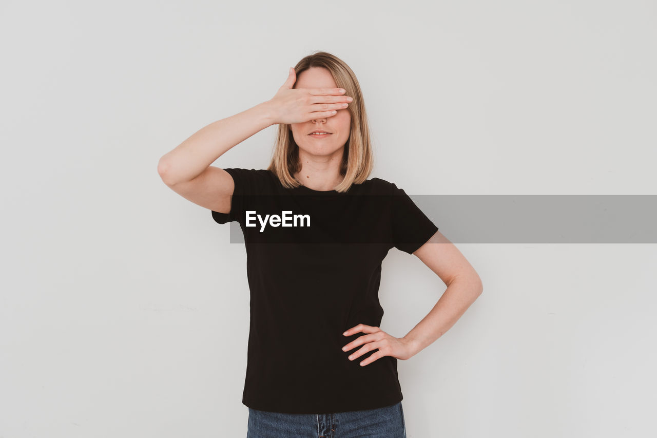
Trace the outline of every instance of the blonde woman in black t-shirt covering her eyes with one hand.
{"label": "blonde woman in black t-shirt covering her eyes with one hand", "polygon": [[[210,165],[272,124],[279,131],[266,170]],[[290,68],[269,101],[202,128],[160,159],[173,191],[244,233],[248,437],[405,437],[397,359],[438,339],[482,292],[472,266],[402,189],[367,179],[372,168],[359,84],[325,52]],[[447,284],[400,338],[378,327],[381,262],[392,247]]]}

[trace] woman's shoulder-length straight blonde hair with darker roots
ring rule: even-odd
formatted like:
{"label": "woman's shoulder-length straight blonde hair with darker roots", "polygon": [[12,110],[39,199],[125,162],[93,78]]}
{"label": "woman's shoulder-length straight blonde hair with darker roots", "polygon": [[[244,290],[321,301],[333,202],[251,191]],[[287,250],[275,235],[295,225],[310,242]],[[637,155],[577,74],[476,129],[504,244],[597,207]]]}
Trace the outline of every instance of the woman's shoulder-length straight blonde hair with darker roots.
{"label": "woman's shoulder-length straight blonde hair with darker roots", "polygon": [[[365,103],[363,103],[363,93],[351,68],[335,55],[319,51],[304,57],[294,66],[296,77],[298,78],[302,72],[311,67],[326,68],[336,86],[346,90],[344,95],[353,97],[353,101],[347,108],[351,114],[350,135],[344,148],[342,162],[340,162],[340,175],[344,176],[344,179],[334,187],[334,190],[342,193],[347,191],[351,184],[365,182],[374,167],[372,141]],[[301,185],[293,176],[301,170],[299,147],[294,141],[288,124],[279,124],[273,156],[267,170],[279,178],[283,187],[291,189]]]}

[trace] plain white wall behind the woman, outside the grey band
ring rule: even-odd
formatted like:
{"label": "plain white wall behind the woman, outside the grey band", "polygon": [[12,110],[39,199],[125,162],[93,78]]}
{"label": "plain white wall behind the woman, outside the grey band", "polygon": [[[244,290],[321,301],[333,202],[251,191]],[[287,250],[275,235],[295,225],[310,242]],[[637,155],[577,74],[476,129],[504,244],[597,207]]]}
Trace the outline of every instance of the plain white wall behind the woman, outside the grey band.
{"label": "plain white wall behind the woman, outside the grey band", "polygon": [[[246,435],[244,248],[156,166],[305,55],[350,64],[372,177],[411,195],[655,195],[656,24],[637,0],[3,1],[0,437]],[[215,165],[264,168],[274,133]],[[409,437],[654,430],[655,245],[458,246],[484,294],[399,361]],[[444,288],[391,250],[382,329]]]}

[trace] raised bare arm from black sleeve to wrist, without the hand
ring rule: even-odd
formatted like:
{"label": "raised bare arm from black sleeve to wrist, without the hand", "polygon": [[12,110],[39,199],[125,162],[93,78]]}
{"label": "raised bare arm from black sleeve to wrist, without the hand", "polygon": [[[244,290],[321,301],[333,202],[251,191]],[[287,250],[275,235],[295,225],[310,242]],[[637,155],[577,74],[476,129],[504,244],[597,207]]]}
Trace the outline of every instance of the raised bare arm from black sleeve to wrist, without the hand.
{"label": "raised bare arm from black sleeve to wrist, without the hand", "polygon": [[217,212],[230,212],[235,189],[233,178],[210,164],[231,147],[274,124],[272,109],[271,101],[265,101],[201,128],[160,158],[160,178],[194,204]]}

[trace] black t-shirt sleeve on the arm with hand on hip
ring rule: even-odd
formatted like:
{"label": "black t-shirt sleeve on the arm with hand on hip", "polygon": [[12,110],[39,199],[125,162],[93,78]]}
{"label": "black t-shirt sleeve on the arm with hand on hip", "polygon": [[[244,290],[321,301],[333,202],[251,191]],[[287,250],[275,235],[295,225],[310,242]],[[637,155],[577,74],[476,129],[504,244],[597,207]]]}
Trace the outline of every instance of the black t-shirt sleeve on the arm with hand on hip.
{"label": "black t-shirt sleeve on the arm with hand on hip", "polygon": [[413,254],[438,231],[438,227],[403,189],[394,183],[392,187],[392,243],[397,249]]}

